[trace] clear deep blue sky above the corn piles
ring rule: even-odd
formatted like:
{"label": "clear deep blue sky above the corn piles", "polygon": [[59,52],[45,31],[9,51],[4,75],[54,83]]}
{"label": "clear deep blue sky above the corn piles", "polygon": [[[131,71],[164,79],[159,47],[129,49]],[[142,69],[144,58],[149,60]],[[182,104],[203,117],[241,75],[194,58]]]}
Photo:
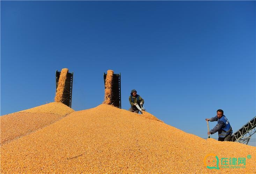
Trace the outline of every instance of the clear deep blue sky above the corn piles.
{"label": "clear deep blue sky above the corn piles", "polygon": [[62,68],[93,108],[111,69],[122,109],[136,89],[168,125],[206,138],[223,109],[235,132],[256,115],[255,21],[255,1],[1,1],[1,115],[53,102]]}

